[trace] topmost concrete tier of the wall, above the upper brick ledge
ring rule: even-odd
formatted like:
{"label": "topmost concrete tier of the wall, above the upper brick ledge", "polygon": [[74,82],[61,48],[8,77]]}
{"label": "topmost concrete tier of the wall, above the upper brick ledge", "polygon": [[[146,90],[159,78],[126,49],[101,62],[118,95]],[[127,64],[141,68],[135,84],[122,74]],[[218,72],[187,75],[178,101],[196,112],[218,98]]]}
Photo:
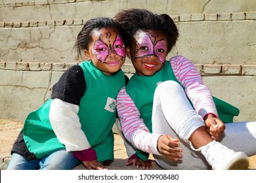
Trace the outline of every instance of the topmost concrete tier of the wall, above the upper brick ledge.
{"label": "topmost concrete tier of the wall, above the upper brick ledge", "polygon": [[26,22],[112,17],[118,10],[127,8],[147,8],[171,15],[223,14],[255,11],[256,5],[252,0],[0,0],[0,8],[0,22]]}

